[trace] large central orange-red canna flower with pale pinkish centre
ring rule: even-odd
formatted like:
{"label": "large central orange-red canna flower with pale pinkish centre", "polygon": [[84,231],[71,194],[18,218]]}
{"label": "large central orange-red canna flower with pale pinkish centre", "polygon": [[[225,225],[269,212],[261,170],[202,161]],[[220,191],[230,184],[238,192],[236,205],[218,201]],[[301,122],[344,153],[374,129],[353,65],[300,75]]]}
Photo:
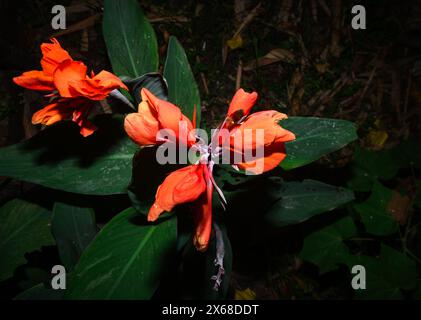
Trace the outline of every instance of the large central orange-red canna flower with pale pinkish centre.
{"label": "large central orange-red canna flower with pale pinkish centre", "polygon": [[[196,163],[172,172],[158,187],[148,220],[155,221],[161,213],[171,211],[179,204],[192,203],[196,221],[193,241],[198,250],[204,251],[208,247],[212,230],[214,188],[225,201],[212,176],[216,158],[225,149],[230,154],[239,155],[238,161],[230,162],[235,168],[252,174],[275,168],[286,157],[285,142],[295,139],[293,133],[279,125],[279,121],[287,116],[275,110],[249,115],[257,100],[257,93],[247,93],[240,89],[234,95],[227,116],[212,137],[211,143],[203,145],[200,137],[191,131],[194,125],[177,106],[155,97],[147,89],[142,89],[141,95],[138,113],[127,115],[124,122],[127,134],[135,143],[142,146],[159,144],[162,141],[159,139],[160,130],[171,129],[175,135],[174,141],[185,143],[189,148],[200,152]],[[179,134],[182,121],[187,123],[185,126],[189,130],[185,137]],[[222,134],[223,129],[225,135]],[[263,132],[261,139],[257,138],[258,130]],[[253,153],[259,148],[263,150],[259,159],[247,159],[247,152]],[[257,161],[261,161],[263,165],[256,166]]]}

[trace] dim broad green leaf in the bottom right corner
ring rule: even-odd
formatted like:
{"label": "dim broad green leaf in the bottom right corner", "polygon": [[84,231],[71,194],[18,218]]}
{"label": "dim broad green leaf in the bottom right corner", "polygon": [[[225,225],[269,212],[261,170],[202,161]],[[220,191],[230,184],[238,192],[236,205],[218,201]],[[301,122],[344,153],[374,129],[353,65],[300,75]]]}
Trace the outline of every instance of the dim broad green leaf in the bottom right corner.
{"label": "dim broad green leaf in the bottom right corner", "polygon": [[356,290],[359,299],[402,299],[401,289],[416,286],[416,264],[402,252],[382,245],[379,257],[349,256],[347,265],[366,269],[366,289]]}

